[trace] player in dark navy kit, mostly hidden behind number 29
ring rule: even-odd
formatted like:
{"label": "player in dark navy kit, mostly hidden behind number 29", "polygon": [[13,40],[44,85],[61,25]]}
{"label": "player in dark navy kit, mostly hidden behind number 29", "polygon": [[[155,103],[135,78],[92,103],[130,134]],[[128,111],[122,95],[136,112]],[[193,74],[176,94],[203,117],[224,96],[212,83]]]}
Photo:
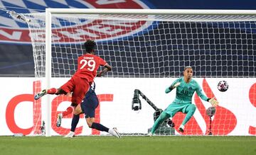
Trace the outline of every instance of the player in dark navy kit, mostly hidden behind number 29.
{"label": "player in dark navy kit, mostly hidden behind number 29", "polygon": [[95,93],[95,83],[93,83],[92,85],[93,86],[90,86],[90,90],[87,91],[82,103],[75,108],[75,114],[73,114],[73,119],[71,122],[71,130],[67,135],[65,135],[65,138],[75,137],[75,127],[78,125],[79,115],[81,113],[85,113],[85,120],[88,127],[103,132],[109,132],[113,136],[121,138],[116,128],[109,129],[104,125],[95,122],[95,109],[99,105],[99,101]]}

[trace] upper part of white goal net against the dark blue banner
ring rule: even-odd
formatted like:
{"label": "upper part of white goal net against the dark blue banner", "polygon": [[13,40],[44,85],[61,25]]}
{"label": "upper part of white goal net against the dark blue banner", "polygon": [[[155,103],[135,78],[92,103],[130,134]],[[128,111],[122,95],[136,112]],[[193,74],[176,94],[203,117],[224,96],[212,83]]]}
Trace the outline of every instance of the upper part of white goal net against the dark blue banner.
{"label": "upper part of white goal net against the dark blue banner", "polygon": [[[44,76],[45,16],[32,17],[28,25],[36,76]],[[253,19],[255,16],[53,16],[52,76],[72,76],[76,59],[83,53],[82,43],[92,39],[97,41],[96,54],[113,67],[109,77],[177,77],[188,65],[195,67],[195,77],[254,77]]]}

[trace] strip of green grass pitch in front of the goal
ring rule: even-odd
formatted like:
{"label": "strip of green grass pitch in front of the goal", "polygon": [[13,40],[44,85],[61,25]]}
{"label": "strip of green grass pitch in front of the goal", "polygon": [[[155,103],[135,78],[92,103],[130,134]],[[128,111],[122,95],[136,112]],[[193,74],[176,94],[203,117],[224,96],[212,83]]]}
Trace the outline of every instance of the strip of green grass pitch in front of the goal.
{"label": "strip of green grass pitch in front of the goal", "polygon": [[256,154],[256,137],[0,137],[0,154]]}

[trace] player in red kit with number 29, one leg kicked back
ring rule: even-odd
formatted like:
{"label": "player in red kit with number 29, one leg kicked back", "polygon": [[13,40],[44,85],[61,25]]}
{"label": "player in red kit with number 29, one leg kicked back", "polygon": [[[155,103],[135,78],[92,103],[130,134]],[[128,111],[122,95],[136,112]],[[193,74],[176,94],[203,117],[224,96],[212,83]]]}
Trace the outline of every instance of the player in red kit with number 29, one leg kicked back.
{"label": "player in red kit with number 29, one leg kicked back", "polygon": [[[110,67],[110,65],[107,64],[104,59],[94,54],[95,45],[96,43],[93,40],[87,40],[85,42],[85,54],[78,57],[78,70],[67,83],[65,83],[63,86],[60,86],[58,89],[44,89],[43,91],[37,93],[34,97],[35,100],[38,100],[46,94],[66,95],[67,93],[73,92],[71,105],[67,108],[67,110],[57,116],[57,127],[60,127],[60,121],[63,116],[73,113],[74,108],[78,104],[82,103],[82,99],[85,97],[85,94],[89,90],[90,84],[92,84],[94,81],[95,76],[102,76],[107,71],[112,69],[112,67]],[[105,68],[97,74],[97,69],[100,66]]]}

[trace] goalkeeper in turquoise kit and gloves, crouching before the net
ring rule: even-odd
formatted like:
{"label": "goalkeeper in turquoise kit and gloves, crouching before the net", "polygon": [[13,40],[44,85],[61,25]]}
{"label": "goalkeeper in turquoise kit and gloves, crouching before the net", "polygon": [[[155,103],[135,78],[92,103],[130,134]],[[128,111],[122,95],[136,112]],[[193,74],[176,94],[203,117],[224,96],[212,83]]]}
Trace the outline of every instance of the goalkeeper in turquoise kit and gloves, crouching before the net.
{"label": "goalkeeper in turquoise kit and gloves, crouching before the net", "polygon": [[166,93],[170,93],[174,88],[176,88],[176,98],[174,99],[173,103],[171,103],[156,119],[156,122],[154,122],[148,136],[152,136],[161,122],[169,117],[174,117],[177,112],[186,113],[185,119],[178,128],[178,131],[184,132],[184,126],[188,120],[191,119],[196,110],[196,105],[192,104],[192,96],[195,91],[198,96],[203,99],[203,101],[208,101],[211,105],[213,105],[213,107],[218,105],[218,101],[215,101],[214,98],[206,97],[198,83],[192,79],[192,67],[185,67],[183,75],[183,77],[176,79],[171,86],[166,88]]}

